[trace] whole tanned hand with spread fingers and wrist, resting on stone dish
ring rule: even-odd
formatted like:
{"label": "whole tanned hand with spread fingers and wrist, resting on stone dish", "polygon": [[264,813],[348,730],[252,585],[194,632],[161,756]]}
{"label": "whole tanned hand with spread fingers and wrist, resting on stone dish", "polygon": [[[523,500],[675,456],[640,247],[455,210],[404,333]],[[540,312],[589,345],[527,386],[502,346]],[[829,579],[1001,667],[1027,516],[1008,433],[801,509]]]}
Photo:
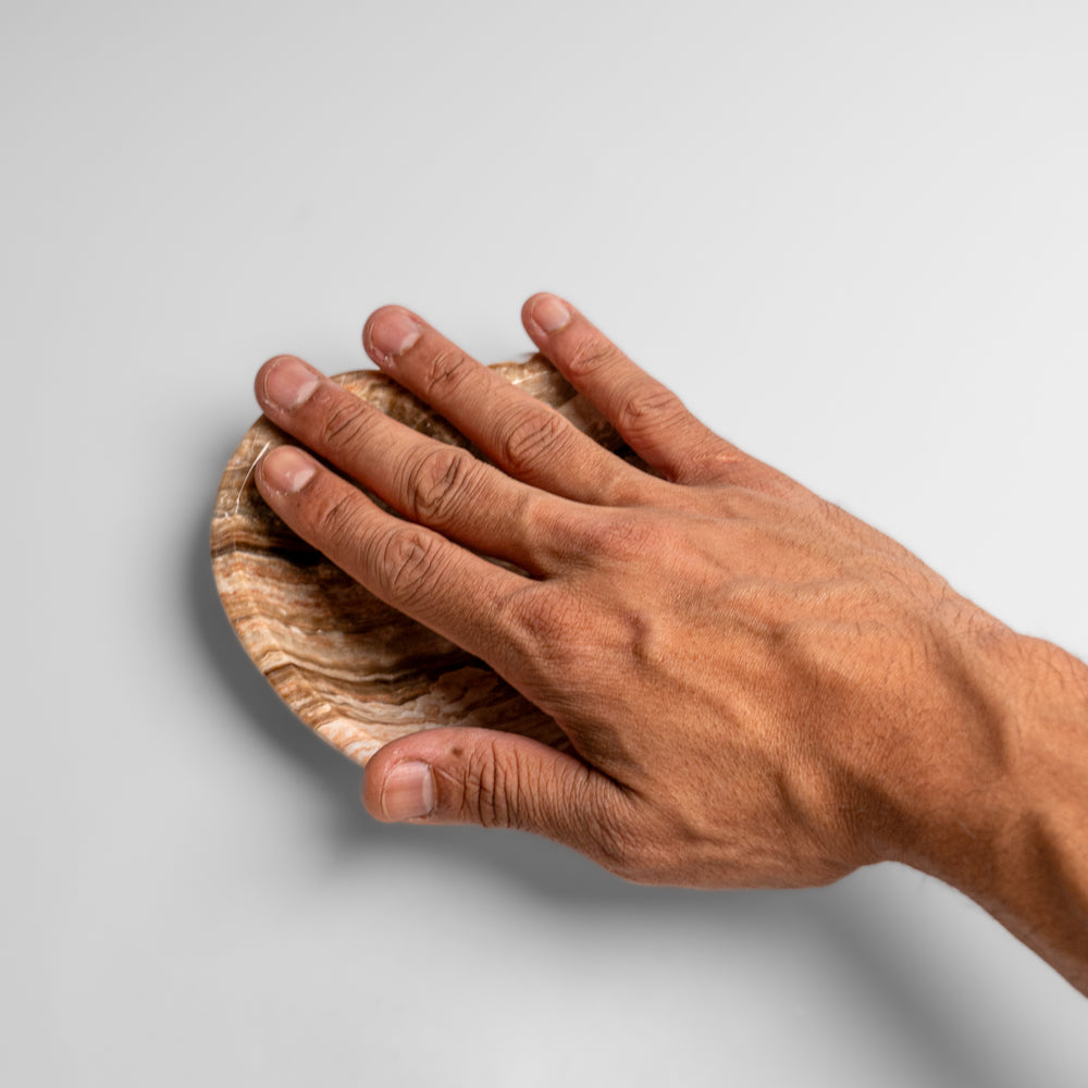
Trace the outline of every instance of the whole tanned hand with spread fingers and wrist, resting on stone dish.
{"label": "whole tanned hand with spread fingers and wrist, resting on stone dish", "polygon": [[521,828],[642,882],[902,862],[1088,993],[1088,668],[707,430],[569,304],[533,296],[522,321],[654,474],[400,307],[368,355],[486,460],[292,356],[257,375],[298,443],[258,467],[273,510],[570,742],[403,738],[367,768],[370,813]]}

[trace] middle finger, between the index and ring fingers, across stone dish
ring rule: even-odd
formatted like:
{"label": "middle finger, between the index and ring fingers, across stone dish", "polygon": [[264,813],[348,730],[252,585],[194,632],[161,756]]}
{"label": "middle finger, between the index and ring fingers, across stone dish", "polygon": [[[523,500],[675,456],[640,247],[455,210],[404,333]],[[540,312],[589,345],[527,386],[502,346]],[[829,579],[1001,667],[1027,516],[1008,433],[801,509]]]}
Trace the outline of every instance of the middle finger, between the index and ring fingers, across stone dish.
{"label": "middle finger, between the index and ring fingers, across stone dish", "polygon": [[294,356],[264,363],[256,393],[272,422],[405,517],[532,573],[553,572],[562,499],[391,419]]}

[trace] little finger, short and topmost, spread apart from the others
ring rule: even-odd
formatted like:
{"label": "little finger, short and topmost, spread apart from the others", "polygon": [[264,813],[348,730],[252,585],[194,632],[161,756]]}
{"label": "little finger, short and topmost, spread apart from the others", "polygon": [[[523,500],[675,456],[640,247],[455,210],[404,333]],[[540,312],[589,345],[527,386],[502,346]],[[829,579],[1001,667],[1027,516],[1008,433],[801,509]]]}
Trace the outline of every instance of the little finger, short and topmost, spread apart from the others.
{"label": "little finger, short and topmost, spread apart from the others", "polygon": [[526,302],[521,319],[556,369],[666,479],[704,482],[721,462],[743,457],[557,296],[534,295]]}

